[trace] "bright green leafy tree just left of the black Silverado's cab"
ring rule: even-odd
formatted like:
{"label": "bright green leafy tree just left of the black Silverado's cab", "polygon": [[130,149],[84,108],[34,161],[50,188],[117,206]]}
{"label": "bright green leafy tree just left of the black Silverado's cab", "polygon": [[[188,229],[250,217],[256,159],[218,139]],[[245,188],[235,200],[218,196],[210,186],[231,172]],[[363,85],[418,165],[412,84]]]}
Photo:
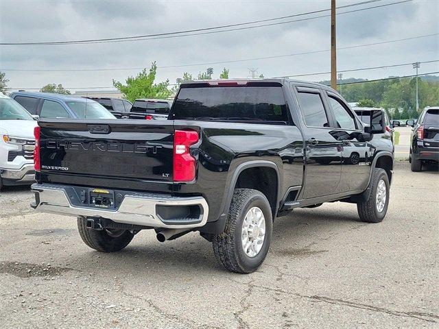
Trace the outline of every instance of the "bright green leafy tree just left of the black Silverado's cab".
{"label": "bright green leafy tree just left of the black Silverado's cab", "polygon": [[112,80],[112,85],[119,89],[130,101],[137,98],[166,99],[172,94],[171,90],[168,89],[169,80],[154,84],[156,73],[157,65],[156,62],[153,62],[149,71],[143,69],[136,77],[128,77],[126,84]]}

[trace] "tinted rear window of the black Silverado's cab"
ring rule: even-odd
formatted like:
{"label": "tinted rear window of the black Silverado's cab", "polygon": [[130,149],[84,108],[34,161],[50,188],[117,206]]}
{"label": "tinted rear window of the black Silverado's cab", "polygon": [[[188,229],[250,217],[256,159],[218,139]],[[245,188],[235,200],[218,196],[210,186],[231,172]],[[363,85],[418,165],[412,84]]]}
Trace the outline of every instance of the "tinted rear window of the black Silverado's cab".
{"label": "tinted rear window of the black Silverado's cab", "polygon": [[289,121],[281,86],[182,88],[171,119]]}

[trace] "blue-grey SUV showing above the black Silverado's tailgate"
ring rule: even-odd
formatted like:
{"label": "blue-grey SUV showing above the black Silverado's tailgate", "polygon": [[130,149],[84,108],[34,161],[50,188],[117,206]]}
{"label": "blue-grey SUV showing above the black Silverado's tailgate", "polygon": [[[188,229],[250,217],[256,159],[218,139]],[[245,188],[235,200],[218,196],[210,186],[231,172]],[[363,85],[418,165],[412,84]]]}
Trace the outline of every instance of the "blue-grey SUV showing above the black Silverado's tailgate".
{"label": "blue-grey SUV showing above the black Silverado's tailgate", "polygon": [[30,114],[45,119],[116,119],[104,106],[69,95],[18,91],[10,97]]}

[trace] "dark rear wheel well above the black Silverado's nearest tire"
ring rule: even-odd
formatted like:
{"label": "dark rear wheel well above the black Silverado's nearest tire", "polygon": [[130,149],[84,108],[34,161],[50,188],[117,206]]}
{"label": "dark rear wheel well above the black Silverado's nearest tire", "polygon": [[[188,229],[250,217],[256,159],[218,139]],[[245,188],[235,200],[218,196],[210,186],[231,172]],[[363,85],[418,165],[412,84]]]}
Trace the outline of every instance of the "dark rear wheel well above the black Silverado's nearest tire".
{"label": "dark rear wheel well above the black Silverado's nearest tire", "polygon": [[272,217],[276,217],[278,178],[271,167],[252,167],[239,173],[235,188],[252,188],[261,191],[270,202]]}

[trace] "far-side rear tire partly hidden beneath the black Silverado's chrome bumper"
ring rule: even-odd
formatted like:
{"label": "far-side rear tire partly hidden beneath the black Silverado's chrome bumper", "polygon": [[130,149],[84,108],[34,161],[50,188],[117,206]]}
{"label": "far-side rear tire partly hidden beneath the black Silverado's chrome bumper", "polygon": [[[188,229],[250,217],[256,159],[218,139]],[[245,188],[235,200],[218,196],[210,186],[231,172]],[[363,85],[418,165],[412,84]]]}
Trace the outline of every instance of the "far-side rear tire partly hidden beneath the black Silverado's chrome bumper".
{"label": "far-side rear tire partly hidden beneath the black Silverado's chrome bumper", "polygon": [[82,241],[88,247],[99,252],[119,252],[134,237],[134,234],[128,230],[92,230],[87,228],[86,217],[78,217],[78,231]]}

